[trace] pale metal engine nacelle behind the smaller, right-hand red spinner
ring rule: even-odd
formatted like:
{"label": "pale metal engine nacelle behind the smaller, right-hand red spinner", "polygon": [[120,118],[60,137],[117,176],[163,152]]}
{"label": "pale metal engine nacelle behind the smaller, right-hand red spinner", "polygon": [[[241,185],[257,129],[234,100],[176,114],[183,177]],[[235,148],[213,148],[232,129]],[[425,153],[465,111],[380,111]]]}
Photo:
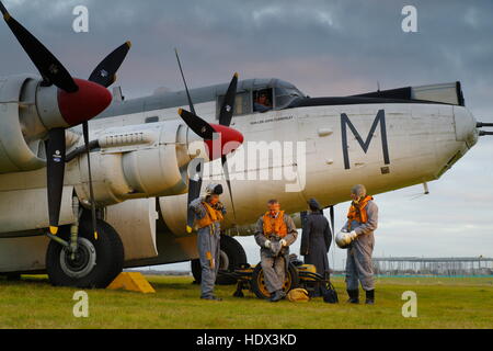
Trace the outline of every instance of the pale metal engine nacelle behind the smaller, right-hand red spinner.
{"label": "pale metal engine nacelle behind the smaller, right-hand red spinner", "polygon": [[[94,136],[101,147],[91,152],[99,206],[186,193],[188,163],[199,155],[206,156],[204,143],[180,121],[113,127]],[[192,144],[202,145],[197,155],[188,155]],[[78,166],[71,165],[69,172],[79,173],[76,191],[87,204],[90,196],[85,157],[79,157]]]}

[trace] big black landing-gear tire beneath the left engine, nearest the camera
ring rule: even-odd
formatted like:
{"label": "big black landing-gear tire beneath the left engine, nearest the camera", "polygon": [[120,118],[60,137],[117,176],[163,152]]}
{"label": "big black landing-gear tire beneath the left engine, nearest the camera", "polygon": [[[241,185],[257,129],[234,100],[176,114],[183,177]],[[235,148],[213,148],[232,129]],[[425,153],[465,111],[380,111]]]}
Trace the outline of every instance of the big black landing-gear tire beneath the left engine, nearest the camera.
{"label": "big black landing-gear tire beneath the left engine, nearest the camera", "polygon": [[[116,230],[98,219],[98,240],[90,220],[79,227],[79,250],[76,261],[64,247],[51,240],[46,252],[46,270],[55,286],[104,288],[118,275],[124,264],[124,247]],[[60,237],[69,240],[69,227],[60,230]]]}

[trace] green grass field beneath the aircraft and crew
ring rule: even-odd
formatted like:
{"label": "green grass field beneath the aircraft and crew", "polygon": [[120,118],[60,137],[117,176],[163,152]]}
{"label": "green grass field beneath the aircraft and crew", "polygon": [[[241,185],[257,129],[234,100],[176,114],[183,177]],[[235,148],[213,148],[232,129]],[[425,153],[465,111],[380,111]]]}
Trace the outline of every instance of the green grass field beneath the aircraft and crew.
{"label": "green grass field beneath the aircraft and crew", "polygon": [[[380,278],[377,304],[346,305],[344,281],[334,279],[341,303],[321,298],[277,304],[233,286],[219,286],[223,302],[197,298],[188,276],[148,276],[156,294],[93,290],[88,318],[72,314],[74,288],[46,278],[0,279],[0,328],[493,328],[493,278]],[[417,317],[402,317],[405,291],[417,294]]]}

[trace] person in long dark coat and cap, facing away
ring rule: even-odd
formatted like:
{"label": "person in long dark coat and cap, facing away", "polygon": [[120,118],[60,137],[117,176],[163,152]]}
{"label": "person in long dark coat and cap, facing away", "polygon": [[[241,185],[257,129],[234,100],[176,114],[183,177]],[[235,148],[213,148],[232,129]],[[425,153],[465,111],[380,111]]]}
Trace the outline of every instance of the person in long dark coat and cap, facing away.
{"label": "person in long dark coat and cap, facing away", "polygon": [[[317,268],[317,273],[325,276],[329,272],[329,259],[326,257],[332,241],[332,233],[323,215],[323,211],[316,199],[308,201],[310,213],[303,224],[303,231],[301,234],[300,254],[305,256],[306,264],[313,264]],[[322,286],[316,291],[313,297],[323,294]]]}

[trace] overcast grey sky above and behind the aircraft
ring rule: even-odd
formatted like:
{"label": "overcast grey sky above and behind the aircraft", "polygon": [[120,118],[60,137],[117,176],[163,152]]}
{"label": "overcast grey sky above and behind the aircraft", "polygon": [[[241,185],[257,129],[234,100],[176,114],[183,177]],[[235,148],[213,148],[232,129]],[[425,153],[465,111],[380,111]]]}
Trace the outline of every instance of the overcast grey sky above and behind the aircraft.
{"label": "overcast grey sky above and behind the aircraft", "polygon": [[[118,76],[127,98],[181,90],[177,47],[191,87],[227,82],[234,71],[282,78],[312,97],[372,91],[377,81],[390,89],[460,80],[477,120],[493,122],[491,0],[3,2],[81,78],[130,39]],[[78,4],[89,9],[89,33],[72,31]],[[401,30],[405,4],[417,9],[417,33]],[[36,72],[3,23],[0,43],[0,76]],[[415,197],[422,186],[413,186],[376,196],[376,256],[493,257],[492,163],[493,137],[484,137],[429,183],[429,195]],[[346,211],[337,206],[337,227]],[[253,238],[241,241],[255,262]],[[340,265],[344,251],[335,252]]]}

